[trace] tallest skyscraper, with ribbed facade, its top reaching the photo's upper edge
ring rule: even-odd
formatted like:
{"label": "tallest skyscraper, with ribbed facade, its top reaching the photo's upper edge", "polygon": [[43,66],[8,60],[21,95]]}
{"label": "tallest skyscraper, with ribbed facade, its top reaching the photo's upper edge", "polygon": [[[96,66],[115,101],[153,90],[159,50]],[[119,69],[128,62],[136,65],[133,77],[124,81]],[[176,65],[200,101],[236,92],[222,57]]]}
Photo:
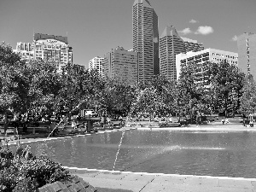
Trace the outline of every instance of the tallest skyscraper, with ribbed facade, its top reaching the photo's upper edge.
{"label": "tallest skyscraper, with ribbed facade, its top reaching the photo's upper edge", "polygon": [[138,53],[138,81],[148,81],[160,70],[158,16],[148,0],[133,3],[132,41]]}

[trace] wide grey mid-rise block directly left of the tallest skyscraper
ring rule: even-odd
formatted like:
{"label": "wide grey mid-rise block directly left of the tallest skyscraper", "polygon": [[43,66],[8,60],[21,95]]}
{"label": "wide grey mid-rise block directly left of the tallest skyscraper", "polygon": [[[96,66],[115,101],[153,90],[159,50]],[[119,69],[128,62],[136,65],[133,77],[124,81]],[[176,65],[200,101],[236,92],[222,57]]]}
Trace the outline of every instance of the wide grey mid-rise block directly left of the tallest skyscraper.
{"label": "wide grey mid-rise block directly left of the tallest skyscraper", "polygon": [[111,49],[104,55],[105,77],[116,78],[128,84],[138,81],[138,53],[122,47]]}

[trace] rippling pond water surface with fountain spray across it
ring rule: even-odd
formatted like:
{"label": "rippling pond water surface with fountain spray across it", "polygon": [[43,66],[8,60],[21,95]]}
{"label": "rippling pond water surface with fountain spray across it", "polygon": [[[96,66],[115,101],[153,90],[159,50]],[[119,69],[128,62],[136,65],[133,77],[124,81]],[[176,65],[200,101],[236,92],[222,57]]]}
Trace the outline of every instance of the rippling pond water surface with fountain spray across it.
{"label": "rippling pond water surface with fountain spray across it", "polygon": [[[113,169],[122,132],[33,143],[64,166]],[[114,170],[256,177],[256,133],[125,131]]]}

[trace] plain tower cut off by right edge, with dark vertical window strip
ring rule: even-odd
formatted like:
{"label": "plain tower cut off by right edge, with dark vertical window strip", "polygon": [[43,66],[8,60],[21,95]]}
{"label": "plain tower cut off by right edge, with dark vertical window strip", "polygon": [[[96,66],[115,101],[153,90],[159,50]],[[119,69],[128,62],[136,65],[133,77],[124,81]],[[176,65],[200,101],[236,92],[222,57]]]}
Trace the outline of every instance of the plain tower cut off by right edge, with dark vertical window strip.
{"label": "plain tower cut off by right edge, with dark vertical window strip", "polygon": [[256,33],[245,32],[237,38],[238,67],[256,79]]}

